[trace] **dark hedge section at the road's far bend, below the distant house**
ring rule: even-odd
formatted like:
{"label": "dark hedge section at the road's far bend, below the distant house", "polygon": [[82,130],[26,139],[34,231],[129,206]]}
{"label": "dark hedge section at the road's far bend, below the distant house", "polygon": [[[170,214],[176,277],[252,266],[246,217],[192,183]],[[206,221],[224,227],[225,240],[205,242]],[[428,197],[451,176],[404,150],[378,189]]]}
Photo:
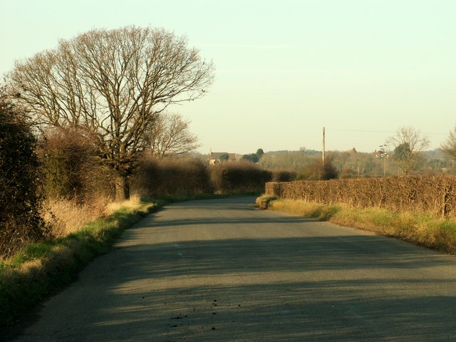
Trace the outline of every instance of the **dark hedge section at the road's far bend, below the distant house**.
{"label": "dark hedge section at the road's far bend, below the distant house", "polygon": [[217,194],[264,192],[272,172],[250,162],[224,162],[210,168],[212,186]]}

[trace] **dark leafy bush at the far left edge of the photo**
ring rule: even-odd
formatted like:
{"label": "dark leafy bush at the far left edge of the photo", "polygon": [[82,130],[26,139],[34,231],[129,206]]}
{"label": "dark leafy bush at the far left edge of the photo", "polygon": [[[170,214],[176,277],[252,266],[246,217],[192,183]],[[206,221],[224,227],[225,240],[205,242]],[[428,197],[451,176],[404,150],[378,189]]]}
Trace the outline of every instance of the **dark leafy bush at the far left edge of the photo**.
{"label": "dark leafy bush at the far left edge of the photo", "polygon": [[0,100],[0,257],[50,234],[40,216],[43,176],[35,147],[31,126]]}

